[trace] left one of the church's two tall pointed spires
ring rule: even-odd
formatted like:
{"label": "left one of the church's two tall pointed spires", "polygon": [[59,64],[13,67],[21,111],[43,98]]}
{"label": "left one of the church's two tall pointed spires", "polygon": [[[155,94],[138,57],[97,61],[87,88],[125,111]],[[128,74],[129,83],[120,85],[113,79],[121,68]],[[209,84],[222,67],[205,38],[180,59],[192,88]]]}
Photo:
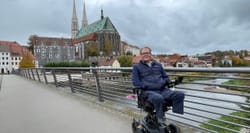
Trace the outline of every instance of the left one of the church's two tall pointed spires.
{"label": "left one of the church's two tall pointed spires", "polygon": [[74,0],[72,22],[71,22],[71,38],[76,38],[77,33],[78,33],[78,19],[76,15],[76,5]]}

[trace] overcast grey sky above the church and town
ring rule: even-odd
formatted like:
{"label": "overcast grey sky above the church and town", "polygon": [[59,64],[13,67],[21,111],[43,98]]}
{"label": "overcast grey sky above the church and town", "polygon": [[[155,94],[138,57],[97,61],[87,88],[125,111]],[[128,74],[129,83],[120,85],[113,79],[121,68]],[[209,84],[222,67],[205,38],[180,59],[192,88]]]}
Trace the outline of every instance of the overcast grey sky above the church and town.
{"label": "overcast grey sky above the church and town", "polygon": [[[121,40],[154,53],[250,50],[250,0],[85,0],[88,22],[101,7]],[[0,40],[71,36],[73,0],[1,0]],[[83,0],[76,0],[81,25]]]}

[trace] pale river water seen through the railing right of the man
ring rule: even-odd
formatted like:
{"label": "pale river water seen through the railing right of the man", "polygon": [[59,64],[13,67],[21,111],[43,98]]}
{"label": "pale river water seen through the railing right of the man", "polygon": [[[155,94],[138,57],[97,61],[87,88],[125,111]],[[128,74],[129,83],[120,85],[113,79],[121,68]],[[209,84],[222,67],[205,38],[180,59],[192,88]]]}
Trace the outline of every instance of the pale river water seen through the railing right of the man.
{"label": "pale river water seen through the railing right of the man", "polygon": [[[226,81],[228,81],[228,79],[214,79],[214,80],[205,80],[205,81],[203,80],[203,81],[195,81],[195,82],[196,83],[221,84],[221,83],[226,82]],[[207,88],[209,88],[209,87],[211,88],[211,86],[199,85],[199,84],[182,84],[182,85],[180,85],[180,87],[192,88],[192,89],[197,89],[197,90],[207,90]],[[214,88],[226,91],[224,88],[220,88],[218,86],[214,87]],[[245,102],[246,101],[246,97],[237,96],[237,95],[218,94],[218,93],[190,91],[190,90],[185,90],[185,94],[208,97],[208,98],[215,98],[215,99],[222,99],[222,100],[229,100],[229,101],[235,101],[235,102]],[[221,107],[227,107],[227,108],[231,108],[231,109],[240,109],[240,107],[238,105],[236,105],[235,103],[231,103],[231,102],[223,102],[223,101],[218,101],[218,100],[215,101],[215,100],[209,100],[209,99],[204,99],[204,98],[195,98],[195,97],[190,97],[190,96],[186,96],[185,99],[190,100],[190,101],[195,101],[195,102],[201,102],[201,103],[221,106]],[[190,102],[185,102],[185,106],[199,108],[202,110],[207,110],[207,111],[217,112],[217,113],[222,113],[222,114],[230,114],[230,113],[234,112],[233,110],[210,107],[210,106],[194,104],[194,103],[190,103]],[[213,119],[220,117],[220,115],[217,115],[214,113],[197,111],[197,110],[189,109],[189,108],[185,108],[185,112],[194,113],[197,115],[201,115],[201,116],[205,116],[205,117],[213,118]],[[169,111],[168,113],[172,114],[171,111]],[[184,117],[186,117],[188,119],[194,119],[194,120],[197,120],[200,122],[205,122],[208,120],[207,118],[196,117],[194,115],[189,115],[188,113],[184,114]],[[172,116],[172,115],[166,115],[166,116],[167,116],[167,118],[178,119],[178,121],[181,121],[184,123],[189,123],[189,124],[192,124],[195,126],[199,126],[199,123],[197,123],[197,122],[189,121],[186,119],[180,119],[180,118]]]}

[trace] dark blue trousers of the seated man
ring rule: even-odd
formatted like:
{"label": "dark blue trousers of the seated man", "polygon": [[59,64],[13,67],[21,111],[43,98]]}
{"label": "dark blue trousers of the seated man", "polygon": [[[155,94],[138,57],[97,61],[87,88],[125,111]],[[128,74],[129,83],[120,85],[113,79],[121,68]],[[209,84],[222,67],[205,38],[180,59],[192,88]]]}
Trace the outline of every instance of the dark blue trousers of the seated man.
{"label": "dark blue trousers of the seated man", "polygon": [[180,91],[172,91],[164,89],[163,91],[145,91],[148,101],[154,105],[158,118],[163,118],[163,104],[168,101],[172,103],[173,112],[178,114],[184,113],[184,97],[185,94]]}

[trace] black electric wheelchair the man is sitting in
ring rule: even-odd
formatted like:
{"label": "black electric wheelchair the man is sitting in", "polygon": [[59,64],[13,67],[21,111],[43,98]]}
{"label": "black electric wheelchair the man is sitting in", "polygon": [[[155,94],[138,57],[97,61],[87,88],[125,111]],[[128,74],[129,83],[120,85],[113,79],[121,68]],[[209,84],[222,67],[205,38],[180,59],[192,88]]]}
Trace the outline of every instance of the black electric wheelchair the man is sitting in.
{"label": "black electric wheelchair the man is sitting in", "polygon": [[[177,77],[171,81],[167,86],[173,88],[175,85],[181,83],[183,77]],[[143,95],[142,90],[138,87],[133,88],[133,93],[137,95],[137,107],[147,112],[147,115],[139,120],[133,119],[132,130],[133,133],[180,133],[180,128],[174,124],[165,124],[159,122],[156,117],[156,112],[152,103],[147,101],[147,96]],[[171,109],[172,103],[165,101],[163,104],[163,111],[166,112]]]}

